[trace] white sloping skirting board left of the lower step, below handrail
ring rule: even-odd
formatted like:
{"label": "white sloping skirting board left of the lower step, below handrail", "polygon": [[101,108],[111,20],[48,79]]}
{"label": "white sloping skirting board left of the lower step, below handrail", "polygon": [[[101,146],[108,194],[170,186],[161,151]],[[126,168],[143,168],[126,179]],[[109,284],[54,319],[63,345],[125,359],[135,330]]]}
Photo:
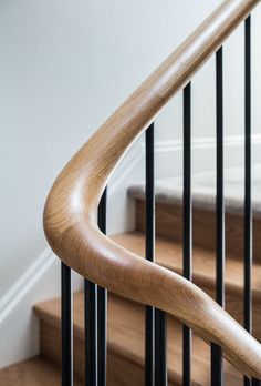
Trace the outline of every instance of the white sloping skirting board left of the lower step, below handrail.
{"label": "white sloping skirting board left of the lower step, below handrail", "polygon": [[[39,353],[39,323],[33,306],[60,296],[60,261],[48,247],[0,298],[0,368]],[[74,290],[82,278],[74,275]]]}

